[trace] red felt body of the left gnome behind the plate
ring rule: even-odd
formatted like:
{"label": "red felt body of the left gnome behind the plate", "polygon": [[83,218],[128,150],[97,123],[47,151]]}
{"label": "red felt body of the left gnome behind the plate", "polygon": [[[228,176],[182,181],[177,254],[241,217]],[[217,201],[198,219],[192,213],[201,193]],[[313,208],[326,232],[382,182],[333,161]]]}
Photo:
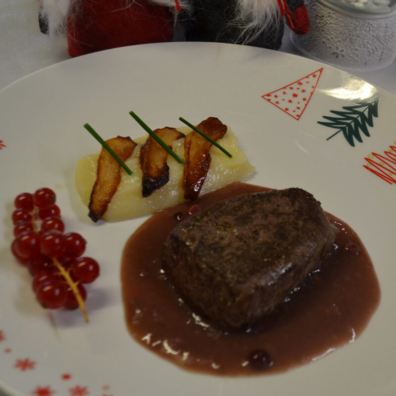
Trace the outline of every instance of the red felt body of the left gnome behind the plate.
{"label": "red felt body of the left gnome behind the plate", "polygon": [[70,56],[172,40],[176,0],[71,0],[66,18]]}

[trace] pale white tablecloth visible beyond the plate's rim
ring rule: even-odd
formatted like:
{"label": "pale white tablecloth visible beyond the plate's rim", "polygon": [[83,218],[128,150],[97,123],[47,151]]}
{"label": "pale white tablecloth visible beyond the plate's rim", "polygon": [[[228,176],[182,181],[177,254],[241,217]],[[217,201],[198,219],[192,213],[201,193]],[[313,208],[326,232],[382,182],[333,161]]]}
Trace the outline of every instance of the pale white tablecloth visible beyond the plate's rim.
{"label": "pale white tablecloth visible beyond the plate's rim", "polygon": [[[0,89],[69,58],[64,37],[40,32],[37,0],[0,0],[0,37]],[[289,37],[286,30],[280,51],[301,55]],[[378,71],[344,70],[396,95],[396,61]]]}

